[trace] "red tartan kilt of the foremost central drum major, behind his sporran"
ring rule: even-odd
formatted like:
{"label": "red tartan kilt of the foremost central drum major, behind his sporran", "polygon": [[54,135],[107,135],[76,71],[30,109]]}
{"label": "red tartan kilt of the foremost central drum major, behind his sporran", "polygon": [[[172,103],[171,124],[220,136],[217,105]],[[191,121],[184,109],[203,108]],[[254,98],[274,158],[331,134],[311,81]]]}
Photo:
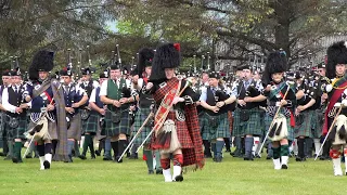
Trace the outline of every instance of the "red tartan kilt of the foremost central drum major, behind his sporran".
{"label": "red tartan kilt of the foremost central drum major, behind his sporran", "polygon": [[[167,116],[167,119],[171,119],[171,120],[175,121],[176,130],[177,130],[177,136],[178,136],[178,140],[179,140],[180,144],[181,144],[181,148],[193,148],[194,145],[193,145],[191,135],[190,135],[190,133],[188,131],[188,127],[187,127],[185,121],[178,121],[176,119],[176,113],[175,112],[169,112],[169,114]],[[163,144],[163,143],[158,143],[157,142],[158,140],[155,138],[155,135],[153,135],[152,136],[151,147],[153,150],[168,148],[170,146],[170,138],[171,136],[168,136],[166,142]]]}

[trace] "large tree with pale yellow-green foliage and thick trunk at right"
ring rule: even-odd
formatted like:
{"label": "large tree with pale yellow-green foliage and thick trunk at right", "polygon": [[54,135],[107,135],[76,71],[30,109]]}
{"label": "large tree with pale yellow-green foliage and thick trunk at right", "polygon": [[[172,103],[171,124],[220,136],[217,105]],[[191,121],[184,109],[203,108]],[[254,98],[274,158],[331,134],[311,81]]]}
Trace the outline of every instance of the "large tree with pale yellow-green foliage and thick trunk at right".
{"label": "large tree with pale yellow-green foliage and thick trunk at right", "polygon": [[[147,30],[150,40],[180,41],[183,55],[247,61],[283,49],[291,64],[322,50],[322,37],[342,30],[346,2],[332,0],[132,0],[120,21]],[[322,14],[323,13],[323,14]],[[131,32],[131,31],[129,31]],[[138,31],[139,32],[139,31]],[[211,51],[227,44],[222,54]]]}

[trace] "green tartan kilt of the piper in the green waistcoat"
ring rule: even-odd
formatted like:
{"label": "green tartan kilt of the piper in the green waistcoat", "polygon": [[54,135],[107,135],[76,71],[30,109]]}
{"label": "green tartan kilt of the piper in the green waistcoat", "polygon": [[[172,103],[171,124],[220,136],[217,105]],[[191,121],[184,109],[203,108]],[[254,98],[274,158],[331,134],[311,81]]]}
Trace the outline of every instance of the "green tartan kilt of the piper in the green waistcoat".
{"label": "green tartan kilt of the piper in the green waistcoat", "polygon": [[102,130],[101,135],[118,136],[119,134],[130,135],[129,110],[120,109],[120,121],[118,123],[112,121],[112,114],[110,110],[106,110],[105,128]]}

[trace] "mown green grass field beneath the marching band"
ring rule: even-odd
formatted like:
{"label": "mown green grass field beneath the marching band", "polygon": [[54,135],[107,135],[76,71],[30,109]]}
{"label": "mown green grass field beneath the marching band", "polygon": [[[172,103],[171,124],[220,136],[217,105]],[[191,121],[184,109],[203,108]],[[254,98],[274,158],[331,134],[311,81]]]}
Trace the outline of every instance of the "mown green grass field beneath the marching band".
{"label": "mown green grass field beneath the marching band", "polygon": [[75,158],[46,171],[39,170],[39,159],[24,160],[0,160],[0,194],[346,194],[347,185],[347,176],[333,176],[331,161],[313,159],[291,158],[287,170],[273,170],[272,160],[244,161],[226,153],[221,164],[207,159],[203,170],[184,174],[181,183],[149,176],[142,159]]}

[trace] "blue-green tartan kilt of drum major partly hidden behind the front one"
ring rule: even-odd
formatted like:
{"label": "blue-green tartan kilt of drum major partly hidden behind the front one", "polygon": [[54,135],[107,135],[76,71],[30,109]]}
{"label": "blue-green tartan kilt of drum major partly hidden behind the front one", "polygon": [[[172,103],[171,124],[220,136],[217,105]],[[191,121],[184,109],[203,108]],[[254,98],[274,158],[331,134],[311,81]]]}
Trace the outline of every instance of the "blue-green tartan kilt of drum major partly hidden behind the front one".
{"label": "blue-green tartan kilt of drum major partly hidden behind the front one", "polygon": [[[136,135],[138,130],[141,128],[143,125],[144,120],[150,116],[151,114],[151,108],[144,108],[141,107],[137,112],[134,116],[134,122],[133,122],[133,128],[132,128],[132,135]],[[141,145],[144,139],[150,134],[153,128],[153,119],[150,119],[146,125],[142,128],[141,132],[138,134],[138,136],[134,139],[133,144],[134,145]],[[151,138],[149,138],[144,144],[150,144]]]}

